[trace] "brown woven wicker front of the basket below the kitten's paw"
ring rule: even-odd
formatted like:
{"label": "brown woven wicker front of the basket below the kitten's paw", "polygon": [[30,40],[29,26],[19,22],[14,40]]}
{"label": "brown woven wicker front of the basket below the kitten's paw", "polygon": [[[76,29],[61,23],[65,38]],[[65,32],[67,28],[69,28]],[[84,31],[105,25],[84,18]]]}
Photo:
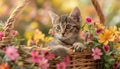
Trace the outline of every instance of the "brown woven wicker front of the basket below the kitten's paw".
{"label": "brown woven wicker front of the basket below the kitten's paw", "polygon": [[[86,49],[83,52],[70,51],[70,65],[67,69],[99,69],[100,61],[93,60],[91,54],[92,52],[89,49]],[[50,69],[56,69],[56,63],[58,63],[58,61],[51,61]]]}

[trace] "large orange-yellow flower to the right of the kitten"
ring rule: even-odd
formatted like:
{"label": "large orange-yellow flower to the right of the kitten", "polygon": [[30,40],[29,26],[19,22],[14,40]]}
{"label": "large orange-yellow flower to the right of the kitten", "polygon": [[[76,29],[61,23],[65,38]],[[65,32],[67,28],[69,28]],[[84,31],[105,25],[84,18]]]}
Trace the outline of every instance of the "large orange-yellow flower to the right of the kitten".
{"label": "large orange-yellow flower to the right of the kitten", "polygon": [[108,30],[105,29],[105,31],[101,34],[99,34],[99,42],[103,43],[104,45],[107,45],[109,41],[114,41],[115,36],[113,35],[113,33]]}

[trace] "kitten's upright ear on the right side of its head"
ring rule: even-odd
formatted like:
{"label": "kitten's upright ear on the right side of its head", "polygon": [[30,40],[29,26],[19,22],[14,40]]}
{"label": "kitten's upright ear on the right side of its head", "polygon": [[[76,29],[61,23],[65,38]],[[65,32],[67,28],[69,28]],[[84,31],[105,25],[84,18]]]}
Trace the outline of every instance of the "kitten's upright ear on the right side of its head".
{"label": "kitten's upright ear on the right side of its head", "polygon": [[81,13],[78,7],[75,7],[69,16],[77,22],[81,22]]}

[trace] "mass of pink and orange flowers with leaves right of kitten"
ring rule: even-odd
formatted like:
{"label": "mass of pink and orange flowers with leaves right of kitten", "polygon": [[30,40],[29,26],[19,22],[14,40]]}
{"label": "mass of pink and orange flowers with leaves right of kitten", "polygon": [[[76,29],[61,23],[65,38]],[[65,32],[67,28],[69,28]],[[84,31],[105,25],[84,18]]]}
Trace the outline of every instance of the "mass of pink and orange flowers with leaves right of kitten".
{"label": "mass of pink and orange flowers with leaves right of kitten", "polygon": [[[84,30],[87,26],[88,29]],[[94,60],[101,60],[104,68],[120,68],[120,30],[116,26],[104,26],[86,18],[86,24],[81,30],[81,40],[90,49]],[[83,35],[84,34],[84,35]],[[115,66],[116,65],[116,66]]]}

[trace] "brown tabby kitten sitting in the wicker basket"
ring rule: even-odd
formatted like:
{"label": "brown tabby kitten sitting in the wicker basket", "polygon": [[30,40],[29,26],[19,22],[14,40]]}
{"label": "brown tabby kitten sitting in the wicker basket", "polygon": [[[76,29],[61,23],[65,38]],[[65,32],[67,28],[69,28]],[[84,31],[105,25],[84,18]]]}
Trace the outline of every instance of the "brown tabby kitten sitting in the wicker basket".
{"label": "brown tabby kitten sitting in the wicker basket", "polygon": [[52,20],[54,39],[47,46],[58,56],[66,56],[67,50],[73,46],[75,51],[82,51],[85,46],[78,42],[78,33],[81,25],[79,8],[74,8],[71,14],[58,16],[49,11]]}

